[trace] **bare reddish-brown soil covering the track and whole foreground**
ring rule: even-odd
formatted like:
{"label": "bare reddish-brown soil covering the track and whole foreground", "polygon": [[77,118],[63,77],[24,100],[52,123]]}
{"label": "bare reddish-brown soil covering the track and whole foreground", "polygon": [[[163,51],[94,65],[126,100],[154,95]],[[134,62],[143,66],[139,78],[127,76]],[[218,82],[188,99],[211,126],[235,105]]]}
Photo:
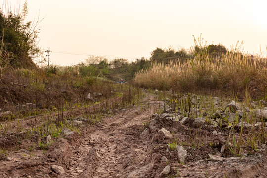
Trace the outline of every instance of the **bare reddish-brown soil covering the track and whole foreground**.
{"label": "bare reddish-brown soil covering the track and whole foreground", "polygon": [[[216,155],[227,141],[227,131],[210,127],[188,129],[178,121],[159,117],[154,113],[161,101],[147,94],[144,106],[125,109],[107,117],[101,124],[86,125],[83,133],[70,134],[59,138],[44,154],[42,150],[9,151],[0,158],[0,178],[265,178],[267,175],[267,147],[245,158],[233,158],[229,151],[221,155],[224,160],[216,161],[209,154]],[[79,115],[81,110],[76,110]],[[158,117],[150,121],[151,115]],[[29,124],[29,118],[22,125]],[[177,138],[177,142],[189,143],[196,135],[196,143],[201,146],[184,145],[187,150],[185,164],[180,164],[178,153],[168,147],[173,139],[166,138],[158,130],[165,128]],[[36,138],[38,139],[38,138]],[[199,141],[202,140],[202,141]],[[12,136],[0,137],[5,147],[12,147]],[[27,145],[32,140],[23,140]],[[210,145],[209,143],[213,143]],[[163,156],[168,163],[162,160]],[[56,172],[51,166],[64,168],[64,173]],[[167,175],[160,174],[166,165]]]}

